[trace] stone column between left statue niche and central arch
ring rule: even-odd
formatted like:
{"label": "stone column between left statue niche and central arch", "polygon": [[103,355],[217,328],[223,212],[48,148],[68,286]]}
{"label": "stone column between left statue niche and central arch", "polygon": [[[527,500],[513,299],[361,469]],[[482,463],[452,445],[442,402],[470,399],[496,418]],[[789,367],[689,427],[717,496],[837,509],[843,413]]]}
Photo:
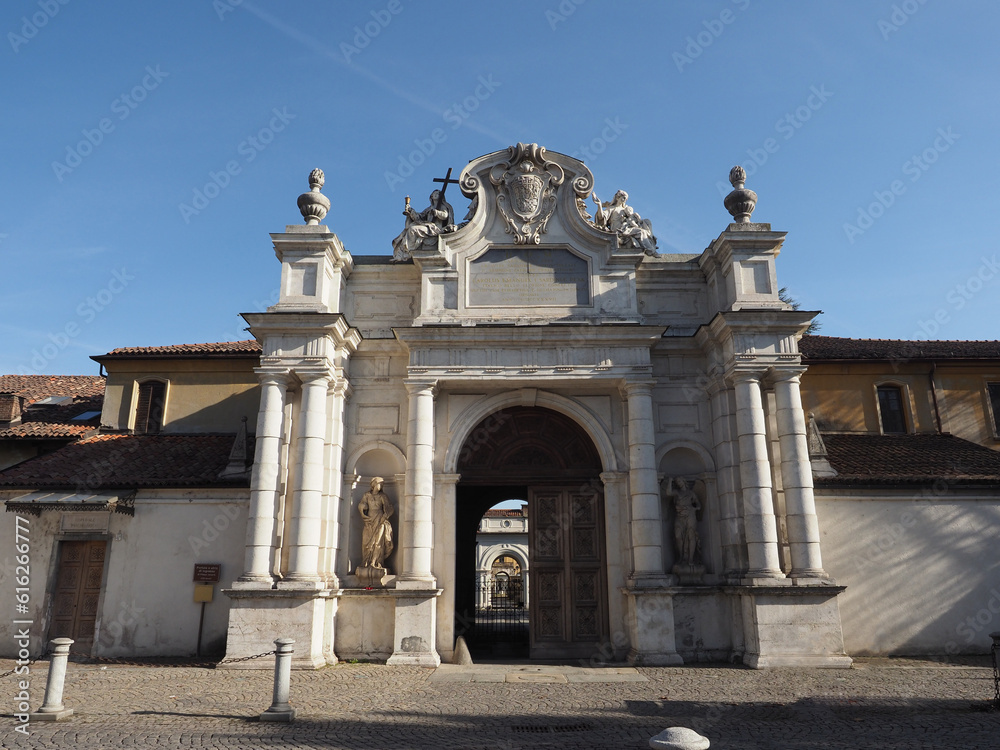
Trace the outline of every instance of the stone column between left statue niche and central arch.
{"label": "stone column between left statue niche and central arch", "polygon": [[[411,588],[434,588],[431,553],[434,547],[434,384],[406,383],[410,394],[406,436],[407,506],[400,533],[404,568],[399,583]],[[416,584],[416,585],[414,585]]]}

